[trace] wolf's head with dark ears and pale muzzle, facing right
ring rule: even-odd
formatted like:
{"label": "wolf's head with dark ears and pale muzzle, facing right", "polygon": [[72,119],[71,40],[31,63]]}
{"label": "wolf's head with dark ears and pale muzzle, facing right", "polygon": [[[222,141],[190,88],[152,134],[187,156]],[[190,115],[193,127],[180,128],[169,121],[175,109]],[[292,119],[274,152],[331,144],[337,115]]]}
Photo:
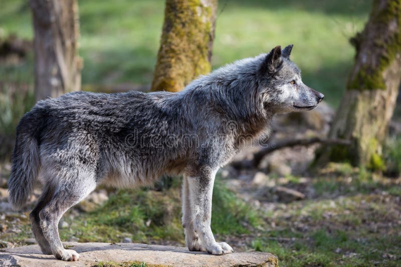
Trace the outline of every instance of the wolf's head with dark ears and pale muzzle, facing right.
{"label": "wolf's head with dark ears and pale muzzle, facing right", "polygon": [[274,47],[258,70],[259,89],[263,104],[274,112],[311,110],[324,95],[302,82],[301,71],[290,60],[293,45]]}

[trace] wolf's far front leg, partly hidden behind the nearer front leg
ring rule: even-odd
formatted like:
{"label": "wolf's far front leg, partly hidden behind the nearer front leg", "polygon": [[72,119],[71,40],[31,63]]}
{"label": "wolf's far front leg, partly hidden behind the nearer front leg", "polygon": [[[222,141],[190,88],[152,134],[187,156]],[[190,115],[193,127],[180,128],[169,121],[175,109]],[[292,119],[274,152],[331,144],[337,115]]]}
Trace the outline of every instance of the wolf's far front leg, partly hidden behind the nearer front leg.
{"label": "wolf's far front leg, partly hidden behind the nearer front leg", "polygon": [[189,201],[188,177],[182,179],[182,226],[184,227],[185,245],[189,251],[204,251],[197,233],[193,229],[192,209]]}

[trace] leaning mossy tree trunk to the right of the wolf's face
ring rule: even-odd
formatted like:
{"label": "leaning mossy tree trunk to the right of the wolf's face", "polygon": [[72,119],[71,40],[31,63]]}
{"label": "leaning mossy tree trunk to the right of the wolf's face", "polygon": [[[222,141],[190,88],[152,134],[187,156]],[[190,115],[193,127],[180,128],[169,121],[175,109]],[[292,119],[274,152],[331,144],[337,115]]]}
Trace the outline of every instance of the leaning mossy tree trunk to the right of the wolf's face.
{"label": "leaning mossy tree trunk to the right of the wolf's face", "polygon": [[401,79],[401,0],[374,0],[364,30],[351,43],[355,64],[328,138],[352,145],[325,147],[321,158],[381,169],[381,144]]}

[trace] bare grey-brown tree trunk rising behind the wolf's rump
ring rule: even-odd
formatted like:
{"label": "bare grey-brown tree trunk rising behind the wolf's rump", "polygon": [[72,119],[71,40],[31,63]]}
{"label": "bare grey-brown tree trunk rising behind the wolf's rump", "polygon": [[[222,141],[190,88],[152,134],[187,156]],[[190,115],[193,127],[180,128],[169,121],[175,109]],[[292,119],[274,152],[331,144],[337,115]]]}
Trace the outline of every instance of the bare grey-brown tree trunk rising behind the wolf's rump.
{"label": "bare grey-brown tree trunk rising behind the wolf's rump", "polygon": [[76,0],[30,0],[35,32],[35,95],[40,100],[81,87]]}

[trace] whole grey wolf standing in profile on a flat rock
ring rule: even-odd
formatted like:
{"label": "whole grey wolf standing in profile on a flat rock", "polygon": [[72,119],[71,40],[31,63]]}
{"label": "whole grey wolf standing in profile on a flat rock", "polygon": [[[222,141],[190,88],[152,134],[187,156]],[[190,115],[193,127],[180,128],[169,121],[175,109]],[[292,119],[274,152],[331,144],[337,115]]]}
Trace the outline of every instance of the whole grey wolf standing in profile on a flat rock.
{"label": "whole grey wolf standing in profile on a flat rock", "polygon": [[63,247],[58,221],[98,184],[146,186],[163,173],[183,175],[188,249],[233,252],[211,229],[216,172],[249,138],[269,132],[274,114],[311,110],[324,97],[302,82],[292,47],[228,64],[180,92],[79,91],[38,101],[17,126],[8,186],[19,209],[35,181],[44,184],[30,213],[43,253],[79,259]]}

